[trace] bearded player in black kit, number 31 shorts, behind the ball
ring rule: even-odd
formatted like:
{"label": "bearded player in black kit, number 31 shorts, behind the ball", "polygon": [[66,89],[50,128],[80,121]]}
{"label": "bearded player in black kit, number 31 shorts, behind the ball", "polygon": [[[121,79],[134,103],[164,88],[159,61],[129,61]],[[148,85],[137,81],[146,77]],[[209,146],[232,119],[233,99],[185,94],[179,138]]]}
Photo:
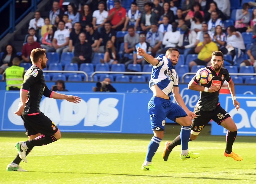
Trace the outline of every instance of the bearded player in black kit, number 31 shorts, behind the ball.
{"label": "bearded player in black kit, number 31 shorts, behind the ball", "polygon": [[[192,128],[190,133],[190,141],[195,140],[199,133],[203,130],[204,126],[213,119],[218,125],[227,129],[226,136],[226,149],[224,155],[231,157],[234,160],[243,160],[243,158],[232,151],[232,146],[237,136],[237,126],[231,118],[231,116],[225,111],[219,103],[219,89],[223,85],[224,81],[228,82],[228,88],[231,93],[233,104],[235,109],[239,109],[240,104],[235,98],[234,83],[229,76],[228,70],[222,68],[223,53],[215,51],[211,55],[211,66],[205,67],[212,72],[212,81],[208,84],[200,84],[197,79],[194,78],[188,84],[188,88],[200,91],[200,98],[194,108],[194,113],[197,115],[192,121]],[[172,142],[165,142],[165,149],[163,151],[163,159],[167,161],[168,156],[172,149],[181,144],[181,135],[176,137]]]}

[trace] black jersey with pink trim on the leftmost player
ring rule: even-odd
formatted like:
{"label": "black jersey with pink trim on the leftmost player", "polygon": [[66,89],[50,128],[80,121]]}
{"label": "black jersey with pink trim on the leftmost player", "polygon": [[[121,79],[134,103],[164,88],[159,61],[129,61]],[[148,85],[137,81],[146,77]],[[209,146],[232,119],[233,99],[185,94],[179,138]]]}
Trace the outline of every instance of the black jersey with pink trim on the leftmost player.
{"label": "black jersey with pink trim on the leftmost player", "polygon": [[23,110],[23,115],[36,115],[41,113],[39,104],[42,96],[51,97],[52,91],[45,84],[43,71],[32,65],[24,75],[24,81],[21,90],[28,91],[26,106]]}

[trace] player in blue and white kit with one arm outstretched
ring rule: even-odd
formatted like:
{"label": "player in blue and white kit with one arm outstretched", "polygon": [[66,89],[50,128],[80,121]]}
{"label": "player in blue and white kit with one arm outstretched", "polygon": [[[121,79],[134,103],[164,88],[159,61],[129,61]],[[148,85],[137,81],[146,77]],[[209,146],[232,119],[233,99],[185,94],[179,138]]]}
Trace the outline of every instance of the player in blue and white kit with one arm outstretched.
{"label": "player in blue and white kit with one arm outstretched", "polygon": [[[153,65],[152,75],[149,81],[149,87],[153,91],[153,97],[148,103],[148,113],[150,114],[151,129],[153,130],[154,136],[149,142],[146,159],[142,164],[142,170],[154,170],[152,158],[163,139],[166,117],[182,126],[180,131],[182,145],[180,159],[187,160],[189,158],[195,159],[199,157],[200,154],[188,151],[191,119],[196,115],[189,111],[179,94],[178,75],[173,68],[178,62],[179,50],[169,48],[165,56],[160,55],[157,58],[153,58],[144,49],[139,47],[137,54],[143,56],[148,63]],[[173,93],[174,99],[179,105],[170,101],[171,93]]]}

